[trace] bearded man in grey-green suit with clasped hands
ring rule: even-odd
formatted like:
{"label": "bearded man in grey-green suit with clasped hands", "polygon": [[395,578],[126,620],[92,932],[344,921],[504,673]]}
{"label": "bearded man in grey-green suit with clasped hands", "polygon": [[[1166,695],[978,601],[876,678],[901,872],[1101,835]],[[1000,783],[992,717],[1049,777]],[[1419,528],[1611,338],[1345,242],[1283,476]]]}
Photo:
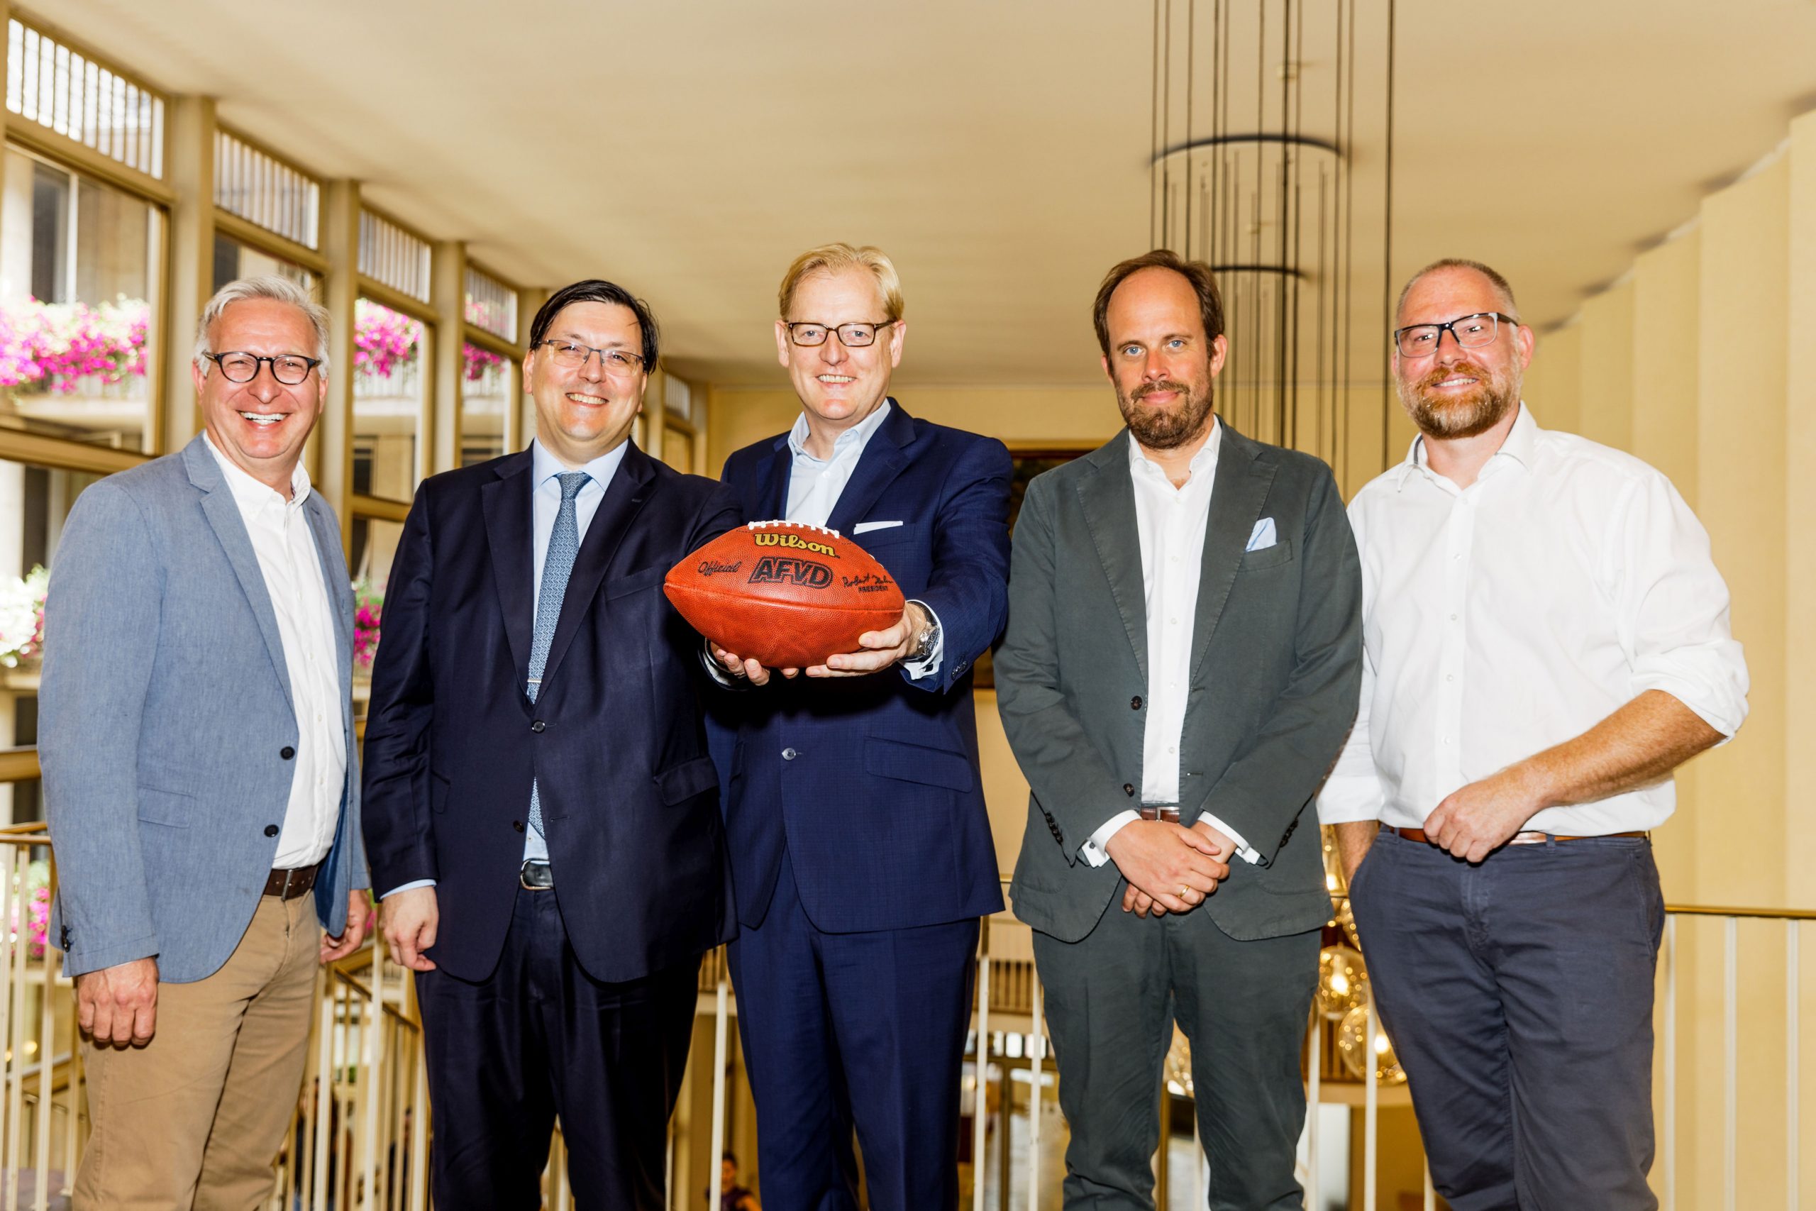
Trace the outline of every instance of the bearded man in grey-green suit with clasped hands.
{"label": "bearded man in grey-green suit with clasped hands", "polygon": [[1071,1126],[1068,1207],[1153,1207],[1179,1019],[1209,1207],[1300,1207],[1300,1042],[1329,919],[1306,817],[1357,712],[1362,583],[1329,468],[1213,410],[1208,265],[1150,252],[1097,294],[1128,428],[1039,476],[997,694],[1031,788],[1015,915]]}

